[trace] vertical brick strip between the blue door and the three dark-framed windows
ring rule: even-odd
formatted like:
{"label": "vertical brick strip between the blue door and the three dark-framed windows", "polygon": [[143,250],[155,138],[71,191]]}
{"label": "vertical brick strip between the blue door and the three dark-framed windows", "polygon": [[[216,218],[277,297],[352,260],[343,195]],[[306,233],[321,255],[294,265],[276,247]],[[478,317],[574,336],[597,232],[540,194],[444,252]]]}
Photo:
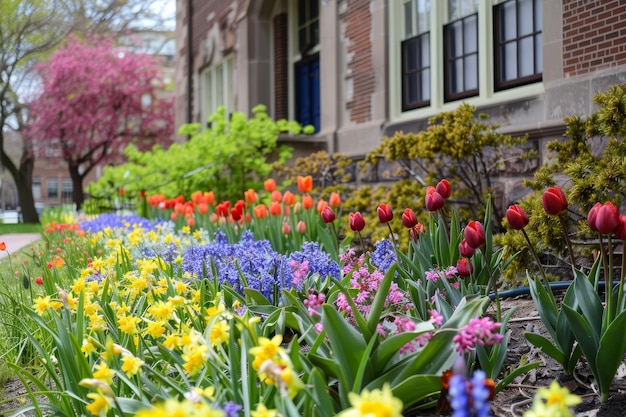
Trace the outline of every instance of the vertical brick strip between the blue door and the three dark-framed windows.
{"label": "vertical brick strip between the blue door and the three dark-framed windows", "polygon": [[345,22],[348,44],[348,77],[353,95],[346,107],[350,120],[356,123],[371,120],[372,94],[374,93],[374,65],[372,62],[372,14],[370,0],[348,0],[340,16]]}

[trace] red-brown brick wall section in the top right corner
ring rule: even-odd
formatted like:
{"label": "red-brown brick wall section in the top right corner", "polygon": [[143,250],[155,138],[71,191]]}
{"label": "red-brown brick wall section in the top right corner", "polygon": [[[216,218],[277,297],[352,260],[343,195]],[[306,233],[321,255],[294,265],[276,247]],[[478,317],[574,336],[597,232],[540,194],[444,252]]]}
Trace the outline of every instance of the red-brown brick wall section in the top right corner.
{"label": "red-brown brick wall section in the top right corner", "polygon": [[563,0],[563,75],[626,64],[623,0]]}

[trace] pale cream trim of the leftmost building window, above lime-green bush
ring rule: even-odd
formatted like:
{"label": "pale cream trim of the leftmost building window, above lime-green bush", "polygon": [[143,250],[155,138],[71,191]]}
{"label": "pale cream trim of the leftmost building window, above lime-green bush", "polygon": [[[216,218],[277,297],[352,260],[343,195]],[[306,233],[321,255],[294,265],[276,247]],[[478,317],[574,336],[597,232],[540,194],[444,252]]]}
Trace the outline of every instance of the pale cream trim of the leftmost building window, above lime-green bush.
{"label": "pale cream trim of the leftmost building window, above lime-green bush", "polygon": [[[214,62],[200,72],[200,120],[203,127],[206,127],[208,118],[221,105],[226,107],[226,114],[235,110],[235,69],[232,55],[223,57],[219,62]],[[218,100],[217,73],[222,73],[223,100]],[[207,84],[207,77],[211,75],[211,85]]]}

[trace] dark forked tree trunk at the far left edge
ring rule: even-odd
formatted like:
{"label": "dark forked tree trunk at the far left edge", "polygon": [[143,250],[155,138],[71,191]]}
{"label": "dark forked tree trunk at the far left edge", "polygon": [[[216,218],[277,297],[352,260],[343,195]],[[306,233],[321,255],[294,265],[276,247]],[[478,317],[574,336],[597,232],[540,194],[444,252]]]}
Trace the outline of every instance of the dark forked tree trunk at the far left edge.
{"label": "dark forked tree trunk at the far left edge", "polygon": [[[4,144],[4,135],[0,132],[0,141]],[[35,210],[35,199],[33,198],[33,169],[35,168],[35,157],[30,149],[24,145],[22,159],[19,167],[0,149],[0,162],[2,167],[9,171],[17,187],[19,204],[22,209],[22,219],[26,223],[39,223],[39,215]]]}

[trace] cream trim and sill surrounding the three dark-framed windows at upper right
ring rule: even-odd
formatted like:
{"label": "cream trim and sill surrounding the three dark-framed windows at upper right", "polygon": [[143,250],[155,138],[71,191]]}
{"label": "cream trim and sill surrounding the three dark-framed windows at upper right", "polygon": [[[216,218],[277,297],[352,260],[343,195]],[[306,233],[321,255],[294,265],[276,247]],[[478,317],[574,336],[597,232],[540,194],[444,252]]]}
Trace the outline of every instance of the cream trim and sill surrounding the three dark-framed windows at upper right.
{"label": "cream trim and sill surrounding the three dark-framed windows at upper right", "polygon": [[492,7],[502,0],[479,0],[478,3],[478,88],[479,95],[444,103],[443,79],[443,25],[447,23],[447,2],[432,1],[430,13],[430,106],[402,111],[402,77],[400,42],[404,24],[394,24],[404,19],[404,2],[390,1],[389,4],[389,119],[403,122],[434,116],[452,111],[467,102],[476,107],[498,105],[544,93],[542,82],[528,84],[496,92],[493,85],[493,16]]}

